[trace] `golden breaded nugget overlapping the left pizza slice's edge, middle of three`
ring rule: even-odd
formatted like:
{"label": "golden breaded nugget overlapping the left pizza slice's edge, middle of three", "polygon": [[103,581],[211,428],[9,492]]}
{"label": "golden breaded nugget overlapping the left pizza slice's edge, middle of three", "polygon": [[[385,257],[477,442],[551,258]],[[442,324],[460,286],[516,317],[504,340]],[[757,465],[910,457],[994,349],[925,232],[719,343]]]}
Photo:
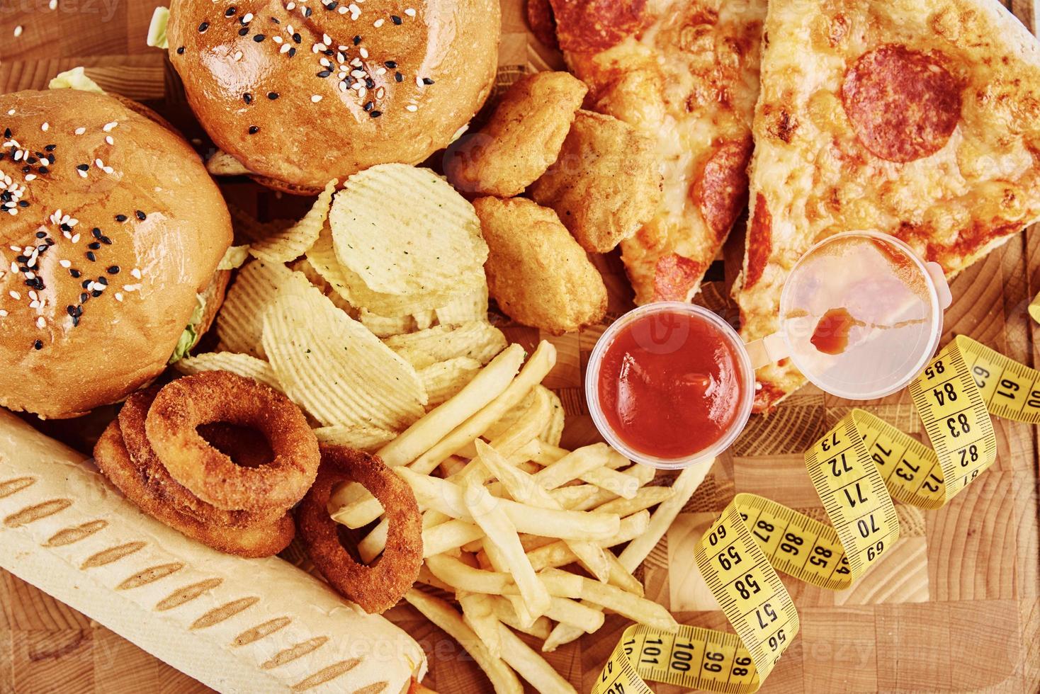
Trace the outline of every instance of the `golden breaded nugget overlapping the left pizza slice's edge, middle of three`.
{"label": "golden breaded nugget overlapping the left pizza slice's edge, middle of three", "polygon": [[560,157],[530,192],[582,248],[605,253],[650,221],[661,182],[650,138],[614,116],[578,111]]}

